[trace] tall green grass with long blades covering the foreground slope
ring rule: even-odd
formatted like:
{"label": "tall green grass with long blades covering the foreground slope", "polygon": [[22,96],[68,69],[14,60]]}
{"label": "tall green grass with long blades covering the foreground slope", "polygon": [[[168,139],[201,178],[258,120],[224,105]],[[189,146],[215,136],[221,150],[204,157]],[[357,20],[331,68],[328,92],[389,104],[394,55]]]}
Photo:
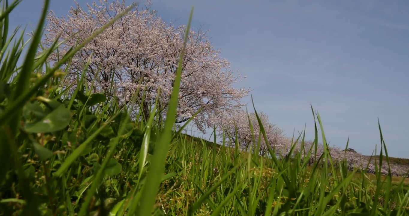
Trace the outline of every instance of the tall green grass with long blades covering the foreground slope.
{"label": "tall green grass with long blades covering the foreground slope", "polygon": [[[164,122],[155,112],[131,119],[126,110],[143,101],[120,108],[115,98],[92,93],[83,76],[72,92],[61,89],[61,65],[90,38],[51,66],[46,57],[59,44],[36,54],[49,1],[27,44],[22,35],[14,44],[6,38],[8,13],[19,1],[1,2],[0,215],[409,214],[405,178],[347,171],[345,162],[307,166],[299,154],[279,160],[271,149],[267,159],[238,151],[238,143],[216,146],[216,137],[207,142],[173,130],[181,67]],[[319,136],[325,144],[321,118],[312,115],[314,144]],[[381,128],[380,141],[379,160],[390,162]],[[318,157],[330,159],[328,151]]]}

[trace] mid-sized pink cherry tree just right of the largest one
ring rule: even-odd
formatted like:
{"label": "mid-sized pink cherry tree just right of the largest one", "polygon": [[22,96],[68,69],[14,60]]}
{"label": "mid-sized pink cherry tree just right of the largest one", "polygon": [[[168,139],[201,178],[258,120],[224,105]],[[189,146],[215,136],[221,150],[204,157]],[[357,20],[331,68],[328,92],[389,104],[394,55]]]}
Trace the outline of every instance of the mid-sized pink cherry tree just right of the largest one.
{"label": "mid-sized pink cherry tree just right of the largest one", "polygon": [[[260,153],[265,155],[267,153],[267,145],[275,151],[284,150],[285,147],[289,147],[289,139],[283,134],[283,130],[277,127],[275,124],[269,122],[268,116],[260,112],[258,113],[260,120],[263,124],[265,134],[268,143],[266,144],[263,135],[260,133],[260,126],[257,121],[255,113],[248,114],[247,111],[242,109],[228,110],[226,112],[219,113],[217,118],[213,119],[216,122],[219,136],[222,137],[225,134],[225,139],[234,145],[237,141],[240,147],[243,149],[250,149],[250,145],[254,146],[254,140],[252,137],[252,131],[250,124],[253,127],[254,138],[257,143],[258,137],[261,138]],[[236,140],[236,137],[238,140]],[[287,146],[286,146],[287,145]],[[254,147],[252,147],[254,148]]]}

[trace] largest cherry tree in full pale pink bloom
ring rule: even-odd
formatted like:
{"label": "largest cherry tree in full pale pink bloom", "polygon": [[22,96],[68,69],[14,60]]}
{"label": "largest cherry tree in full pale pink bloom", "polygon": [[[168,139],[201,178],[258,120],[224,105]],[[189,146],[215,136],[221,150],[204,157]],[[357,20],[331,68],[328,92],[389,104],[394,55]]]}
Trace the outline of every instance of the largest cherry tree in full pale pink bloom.
{"label": "largest cherry tree in full pale pink bloom", "polygon": [[[57,17],[53,11],[49,12],[43,45],[52,45],[60,34],[60,41],[65,40],[59,52],[51,55],[51,61],[57,60],[58,56],[127,8],[125,0],[113,3],[99,0],[98,3],[87,4],[88,11],[77,2],[75,4],[67,17]],[[166,110],[170,99],[185,26],[164,22],[150,10],[151,5],[148,1],[144,7],[138,6],[83,47],[72,59],[65,85],[76,82],[76,76],[82,73],[85,62],[90,58],[85,78],[88,83],[93,83],[94,91],[126,103],[139,88],[137,101],[142,101],[145,93],[138,108],[144,117],[148,117],[156,97],[159,98],[160,113],[165,115],[163,110]],[[193,122],[204,132],[211,126],[211,116],[220,110],[244,106],[240,99],[250,89],[234,87],[243,78],[245,76],[232,71],[230,63],[220,57],[220,50],[213,48],[207,32],[201,28],[196,31],[189,29],[175,123],[187,121],[202,109]]]}

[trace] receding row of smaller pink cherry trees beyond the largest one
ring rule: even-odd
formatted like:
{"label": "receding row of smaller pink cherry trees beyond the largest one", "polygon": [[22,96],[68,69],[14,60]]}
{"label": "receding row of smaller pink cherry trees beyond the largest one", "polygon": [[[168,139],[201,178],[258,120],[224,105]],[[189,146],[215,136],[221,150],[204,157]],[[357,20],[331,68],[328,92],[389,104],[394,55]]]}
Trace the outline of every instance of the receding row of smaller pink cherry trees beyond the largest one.
{"label": "receding row of smaller pink cherry trees beyond the largest one", "polygon": [[[346,151],[345,149],[341,149],[336,146],[324,146],[322,144],[317,144],[317,156],[315,157],[314,142],[304,141],[302,148],[301,140],[298,140],[294,144],[293,142],[295,142],[295,140],[292,141],[290,138],[286,137],[285,134],[283,134],[283,130],[281,130],[274,124],[270,124],[268,116],[265,113],[260,112],[258,113],[258,115],[265,129],[268,141],[267,144],[264,142],[263,135],[260,134],[260,127],[254,113],[248,114],[245,110],[241,109],[229,110],[228,112],[219,113],[217,118],[213,120],[218,126],[217,130],[220,137],[222,137],[224,133],[226,139],[225,141],[227,141],[231,145],[234,145],[237,138],[237,142],[240,144],[240,148],[244,150],[249,149],[250,146],[254,146],[254,141],[257,142],[258,138],[261,136],[260,153],[262,155],[267,154],[268,156],[268,145],[278,158],[294,156],[299,153],[301,154],[303,160],[308,160],[308,164],[312,165],[313,162],[317,161],[319,157],[324,154],[324,148],[328,148],[328,152],[330,153],[330,157],[333,160],[334,166],[339,166],[341,162],[346,161],[349,170],[357,168],[368,173],[375,173],[375,164],[379,166],[379,159],[375,159],[375,157],[371,159],[370,156],[362,155],[353,150],[351,151],[351,149],[348,149]],[[254,130],[254,139],[252,137],[250,123]],[[295,146],[292,155],[288,155],[290,152],[290,148],[292,148],[293,145]],[[309,157],[307,158],[308,151],[310,151],[310,149],[311,152]],[[329,159],[327,158],[327,160],[325,160],[325,158],[323,158],[323,160],[321,160],[321,163],[325,161],[329,162]],[[409,177],[408,167],[402,164],[395,163],[390,163],[389,166],[392,175]],[[382,162],[380,172],[383,175],[386,175],[388,173],[388,164],[386,162],[386,158],[384,158]]]}

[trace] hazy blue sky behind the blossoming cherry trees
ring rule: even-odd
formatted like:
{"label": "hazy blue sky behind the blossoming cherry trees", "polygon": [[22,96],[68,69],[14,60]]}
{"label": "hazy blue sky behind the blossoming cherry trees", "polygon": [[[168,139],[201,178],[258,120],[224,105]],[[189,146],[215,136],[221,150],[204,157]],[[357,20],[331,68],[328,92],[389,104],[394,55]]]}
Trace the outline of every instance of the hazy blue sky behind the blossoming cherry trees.
{"label": "hazy blue sky behind the blossoming cherry trees", "polygon": [[[39,2],[23,0],[11,27],[35,25]],[[350,137],[350,148],[370,155],[379,149],[379,117],[389,155],[409,158],[408,1],[152,2],[163,20],[180,24],[194,5],[193,27],[210,30],[214,47],[247,76],[238,87],[253,88],[256,109],[288,135],[306,124],[313,138],[312,104],[330,145],[343,148]],[[62,16],[72,5],[52,0],[50,9]]]}

